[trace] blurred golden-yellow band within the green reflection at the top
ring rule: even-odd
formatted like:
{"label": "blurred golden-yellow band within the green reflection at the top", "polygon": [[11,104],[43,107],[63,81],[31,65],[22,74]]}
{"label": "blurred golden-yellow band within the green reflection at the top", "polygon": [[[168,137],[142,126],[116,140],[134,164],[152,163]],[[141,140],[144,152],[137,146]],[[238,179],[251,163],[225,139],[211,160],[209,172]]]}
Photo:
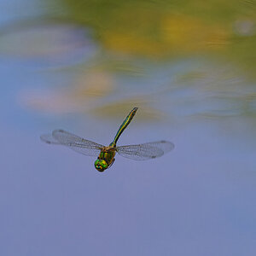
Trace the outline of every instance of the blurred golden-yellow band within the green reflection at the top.
{"label": "blurred golden-yellow band within the green reflection at the top", "polygon": [[[211,52],[224,49],[229,44],[232,31],[220,23],[208,24],[205,20],[189,15],[159,15],[152,9],[144,12],[140,10],[137,15],[134,12],[137,24],[132,19],[120,18],[121,13],[117,16],[117,20],[120,20],[117,26],[102,31],[105,47],[130,55],[163,57],[205,50]],[[150,15],[148,12],[151,12]],[[158,17],[154,25],[148,16]]]}

